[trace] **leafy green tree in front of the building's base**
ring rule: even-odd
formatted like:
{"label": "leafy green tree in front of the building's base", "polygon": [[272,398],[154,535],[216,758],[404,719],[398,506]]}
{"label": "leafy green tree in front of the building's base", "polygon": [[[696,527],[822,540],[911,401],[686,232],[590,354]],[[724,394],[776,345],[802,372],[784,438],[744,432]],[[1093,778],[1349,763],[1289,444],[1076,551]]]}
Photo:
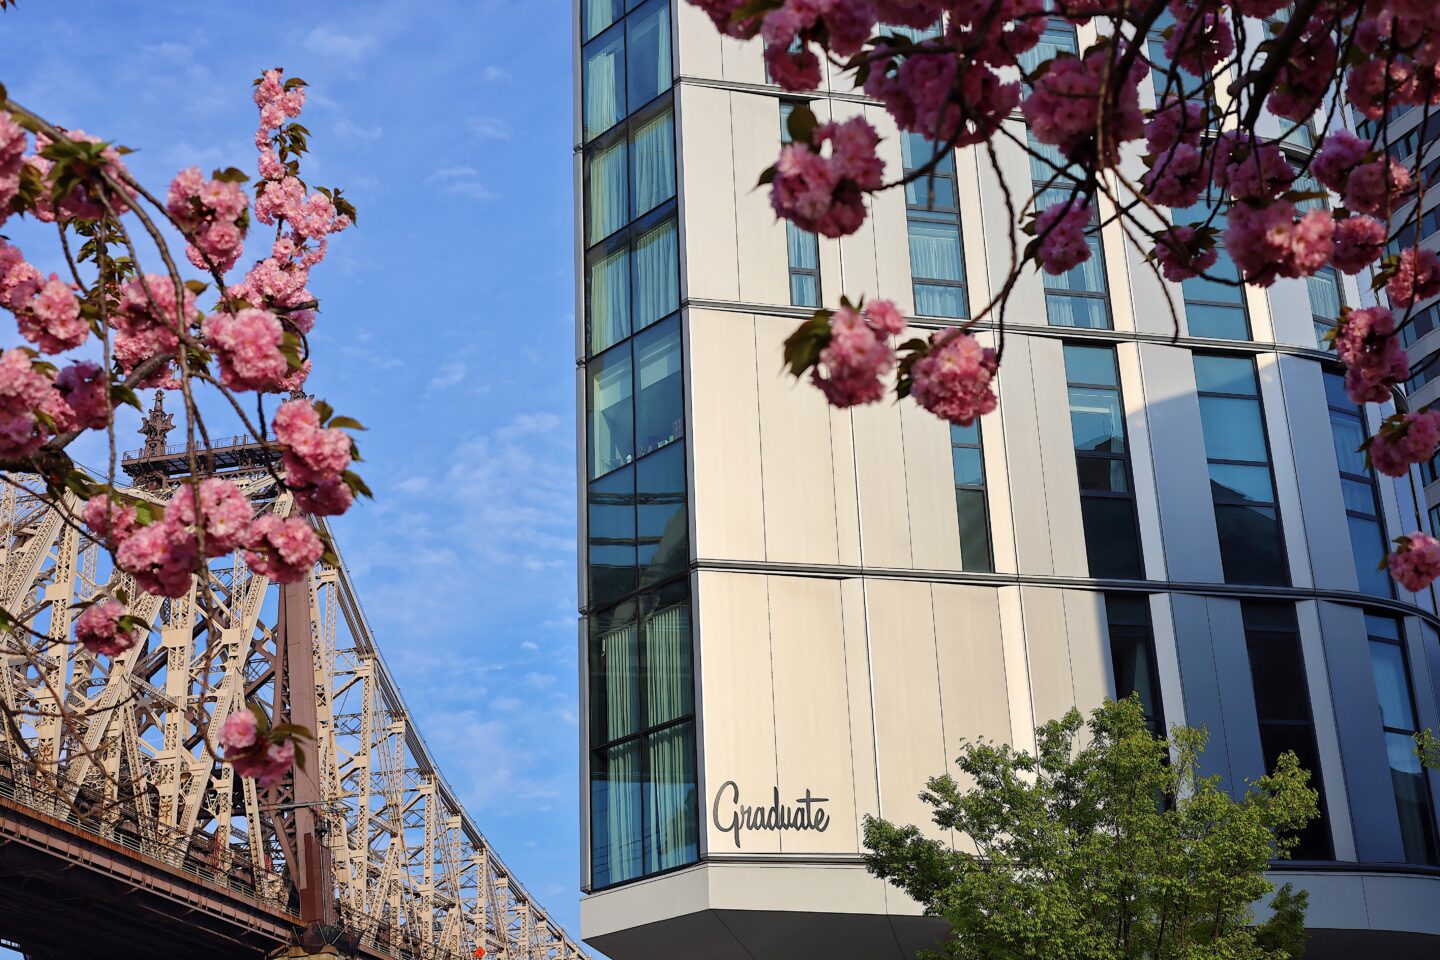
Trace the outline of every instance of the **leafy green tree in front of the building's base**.
{"label": "leafy green tree in front of the building's base", "polygon": [[[1045,724],[1034,754],[965,743],[973,786],[933,777],[920,797],[973,852],[868,818],[865,865],[950,923],[923,957],[1295,960],[1306,895],[1274,891],[1266,868],[1316,816],[1309,773],[1286,753],[1237,800],[1200,776],[1205,738],[1155,737],[1130,698]],[[1257,925],[1251,905],[1272,891]]]}

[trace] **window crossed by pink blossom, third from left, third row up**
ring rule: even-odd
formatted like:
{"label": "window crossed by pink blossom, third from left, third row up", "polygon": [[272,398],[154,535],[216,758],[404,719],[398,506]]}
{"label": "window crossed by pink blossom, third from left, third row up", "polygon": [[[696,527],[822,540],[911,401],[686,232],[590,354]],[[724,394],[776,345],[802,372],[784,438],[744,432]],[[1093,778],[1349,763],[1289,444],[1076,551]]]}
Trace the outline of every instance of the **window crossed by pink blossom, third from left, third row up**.
{"label": "window crossed by pink blossom, third from left, third row up", "polygon": [[[1044,210],[1071,199],[1080,200],[1081,174],[1067,164],[1057,147],[1030,135],[1030,176],[1035,187],[1035,209]],[[1092,207],[1092,223],[1099,213]],[[1045,315],[1051,327],[1110,328],[1110,296],[1104,282],[1104,249],[1096,226],[1086,232],[1090,259],[1064,273],[1041,273],[1045,284]]]}

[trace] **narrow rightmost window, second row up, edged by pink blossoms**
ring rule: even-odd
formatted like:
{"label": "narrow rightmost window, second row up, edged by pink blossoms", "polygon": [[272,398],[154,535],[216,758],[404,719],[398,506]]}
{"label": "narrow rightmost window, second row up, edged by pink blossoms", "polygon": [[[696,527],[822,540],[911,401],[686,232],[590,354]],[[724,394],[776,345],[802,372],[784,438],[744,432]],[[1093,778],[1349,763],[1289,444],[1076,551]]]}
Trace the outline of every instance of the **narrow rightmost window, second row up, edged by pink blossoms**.
{"label": "narrow rightmost window, second row up, edged by pink blossoms", "polygon": [[1355,554],[1355,579],[1359,589],[1392,597],[1394,583],[1381,567],[1388,553],[1385,525],[1380,520],[1380,489],[1375,474],[1365,465],[1365,412],[1345,394],[1345,374],[1325,371],[1325,399],[1331,406],[1331,435],[1335,438],[1335,462],[1341,468],[1341,494]]}

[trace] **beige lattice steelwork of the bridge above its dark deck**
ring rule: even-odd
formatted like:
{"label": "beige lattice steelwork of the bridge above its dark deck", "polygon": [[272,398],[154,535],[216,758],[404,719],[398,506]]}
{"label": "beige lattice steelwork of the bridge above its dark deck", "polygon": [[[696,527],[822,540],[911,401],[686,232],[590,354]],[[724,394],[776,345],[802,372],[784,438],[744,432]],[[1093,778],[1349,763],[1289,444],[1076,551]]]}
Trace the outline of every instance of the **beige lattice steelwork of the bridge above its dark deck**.
{"label": "beige lattice steelwork of the bridge above its dark deck", "polygon": [[[288,514],[289,495],[264,469],[251,471],[232,479],[258,510]],[[73,517],[79,504],[65,507]],[[132,613],[153,628],[114,661],[66,642],[73,604],[107,580],[127,589]],[[4,488],[0,607],[50,642],[0,635],[0,697],[14,717],[0,724],[0,794],[228,882],[281,915],[318,910],[324,923],[359,934],[366,954],[449,960],[482,947],[505,960],[585,956],[446,786],[343,566],[317,564],[308,584],[282,590],[242,558],[223,558],[179,600],[141,594],[127,580],[76,524]],[[287,643],[287,629],[295,642]],[[311,664],[300,662],[304,633]],[[287,649],[301,652],[288,666]],[[215,760],[207,730],[246,699],[272,717],[278,707],[295,721],[314,718],[308,771],[294,783],[256,790]],[[314,910],[304,902],[307,877],[328,878],[320,881],[328,895],[312,894]]]}

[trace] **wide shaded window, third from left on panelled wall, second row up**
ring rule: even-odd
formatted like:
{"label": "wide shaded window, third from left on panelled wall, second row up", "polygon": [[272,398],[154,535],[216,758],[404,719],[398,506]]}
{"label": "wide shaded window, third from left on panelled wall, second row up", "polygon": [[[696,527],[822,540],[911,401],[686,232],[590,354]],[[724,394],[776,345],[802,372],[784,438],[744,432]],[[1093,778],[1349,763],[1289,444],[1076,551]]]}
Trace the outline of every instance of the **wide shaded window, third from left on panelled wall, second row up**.
{"label": "wide shaded window, third from left on panelled wall, second row up", "polygon": [[1195,389],[1225,583],[1289,584],[1254,360],[1195,354]]}

